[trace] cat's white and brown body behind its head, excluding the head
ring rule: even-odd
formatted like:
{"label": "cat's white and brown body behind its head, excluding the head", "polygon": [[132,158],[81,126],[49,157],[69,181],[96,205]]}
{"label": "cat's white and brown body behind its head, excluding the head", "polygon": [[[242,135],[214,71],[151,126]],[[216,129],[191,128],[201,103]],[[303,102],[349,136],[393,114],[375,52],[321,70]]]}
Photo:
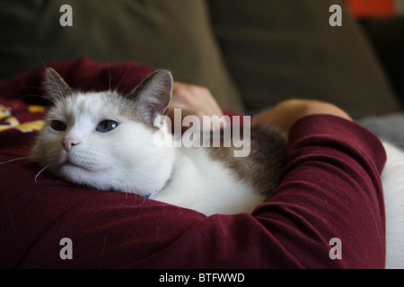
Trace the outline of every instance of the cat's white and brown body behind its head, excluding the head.
{"label": "cat's white and brown body behind its head, excluding the head", "polygon": [[[255,152],[263,142],[268,152]],[[252,127],[248,144],[249,158],[233,157],[233,146],[226,148],[223,143],[219,147],[175,148],[171,179],[150,198],[206,215],[252,212],[277,187],[285,141],[276,132]]]}

